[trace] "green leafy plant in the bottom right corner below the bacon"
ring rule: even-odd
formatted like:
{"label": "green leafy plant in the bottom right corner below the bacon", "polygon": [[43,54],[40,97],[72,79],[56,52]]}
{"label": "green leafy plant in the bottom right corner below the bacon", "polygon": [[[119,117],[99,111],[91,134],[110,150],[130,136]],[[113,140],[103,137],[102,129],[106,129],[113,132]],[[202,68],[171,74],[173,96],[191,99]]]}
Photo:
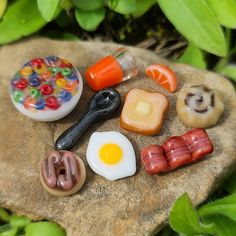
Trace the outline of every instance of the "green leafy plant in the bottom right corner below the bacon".
{"label": "green leafy plant in the bottom right corner below the bacon", "polygon": [[[227,196],[209,201],[197,210],[187,193],[174,203],[169,223],[172,230],[180,235],[234,236],[236,233],[236,171],[226,180]],[[219,190],[218,190],[219,191]],[[174,235],[169,227],[159,235]]]}

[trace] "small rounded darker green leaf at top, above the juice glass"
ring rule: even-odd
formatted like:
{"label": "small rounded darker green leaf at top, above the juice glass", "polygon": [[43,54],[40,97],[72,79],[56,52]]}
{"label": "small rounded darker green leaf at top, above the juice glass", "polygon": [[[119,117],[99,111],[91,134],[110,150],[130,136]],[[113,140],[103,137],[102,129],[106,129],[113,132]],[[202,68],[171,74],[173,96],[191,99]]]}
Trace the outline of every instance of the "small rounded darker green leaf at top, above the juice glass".
{"label": "small rounded darker green leaf at top, above the juice glass", "polygon": [[94,11],[83,11],[77,8],[75,17],[83,29],[94,31],[105,18],[105,9],[100,8]]}

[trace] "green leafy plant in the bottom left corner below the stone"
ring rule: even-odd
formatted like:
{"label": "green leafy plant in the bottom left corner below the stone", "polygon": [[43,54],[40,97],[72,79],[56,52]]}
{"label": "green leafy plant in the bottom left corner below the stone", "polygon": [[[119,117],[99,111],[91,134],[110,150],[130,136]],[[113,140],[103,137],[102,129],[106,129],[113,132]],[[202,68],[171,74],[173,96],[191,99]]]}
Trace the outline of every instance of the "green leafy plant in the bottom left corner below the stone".
{"label": "green leafy plant in the bottom left corner below the stone", "polygon": [[59,225],[41,221],[31,222],[26,216],[15,213],[10,215],[0,208],[0,236],[65,236],[65,231]]}

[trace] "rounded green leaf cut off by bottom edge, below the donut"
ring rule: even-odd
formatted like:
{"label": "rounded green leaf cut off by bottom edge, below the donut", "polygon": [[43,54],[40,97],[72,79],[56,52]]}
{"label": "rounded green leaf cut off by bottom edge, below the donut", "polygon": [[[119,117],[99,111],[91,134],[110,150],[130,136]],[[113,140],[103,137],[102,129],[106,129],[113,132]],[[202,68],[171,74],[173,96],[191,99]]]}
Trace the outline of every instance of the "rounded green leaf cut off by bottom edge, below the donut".
{"label": "rounded green leaf cut off by bottom edge, below the donut", "polygon": [[66,236],[64,229],[52,222],[30,223],[25,227],[25,236]]}

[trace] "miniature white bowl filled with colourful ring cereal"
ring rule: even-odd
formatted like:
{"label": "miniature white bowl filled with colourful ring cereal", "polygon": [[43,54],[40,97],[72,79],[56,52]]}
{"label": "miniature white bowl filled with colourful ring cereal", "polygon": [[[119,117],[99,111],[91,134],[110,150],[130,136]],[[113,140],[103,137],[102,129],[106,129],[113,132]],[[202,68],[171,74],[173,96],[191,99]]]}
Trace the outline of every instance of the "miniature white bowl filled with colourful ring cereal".
{"label": "miniature white bowl filled with colourful ring cereal", "polygon": [[79,71],[56,56],[27,62],[11,80],[10,95],[15,107],[38,121],[55,121],[68,115],[83,90]]}

